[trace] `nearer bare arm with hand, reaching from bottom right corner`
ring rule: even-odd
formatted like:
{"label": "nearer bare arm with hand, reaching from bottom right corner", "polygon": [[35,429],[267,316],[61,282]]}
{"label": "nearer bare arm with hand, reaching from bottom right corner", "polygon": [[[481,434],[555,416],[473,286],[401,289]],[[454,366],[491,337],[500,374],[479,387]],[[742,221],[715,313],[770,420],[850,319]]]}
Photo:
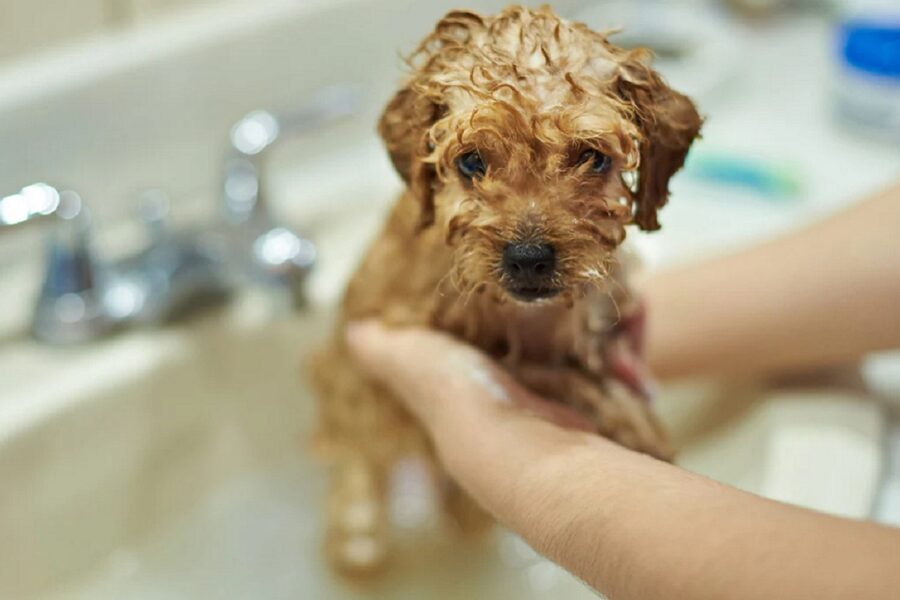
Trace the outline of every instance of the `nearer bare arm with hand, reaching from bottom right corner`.
{"label": "nearer bare arm with hand, reaching from bottom right corner", "polygon": [[900,530],[746,494],[585,433],[444,334],[364,323],[348,342],[477,502],[613,600],[896,598]]}

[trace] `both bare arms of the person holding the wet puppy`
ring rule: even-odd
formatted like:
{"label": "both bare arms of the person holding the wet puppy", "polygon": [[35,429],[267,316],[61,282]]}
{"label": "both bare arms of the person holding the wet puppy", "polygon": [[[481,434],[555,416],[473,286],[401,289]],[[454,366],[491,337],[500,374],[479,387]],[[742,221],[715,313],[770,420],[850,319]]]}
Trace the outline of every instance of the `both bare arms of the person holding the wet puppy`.
{"label": "both bare arms of the person holding the wet puppy", "polygon": [[[898,231],[900,185],[791,237],[654,276],[653,370],[765,374],[900,347]],[[349,344],[477,502],[612,599],[879,600],[900,589],[898,530],[765,500],[586,433],[442,334],[365,324]]]}

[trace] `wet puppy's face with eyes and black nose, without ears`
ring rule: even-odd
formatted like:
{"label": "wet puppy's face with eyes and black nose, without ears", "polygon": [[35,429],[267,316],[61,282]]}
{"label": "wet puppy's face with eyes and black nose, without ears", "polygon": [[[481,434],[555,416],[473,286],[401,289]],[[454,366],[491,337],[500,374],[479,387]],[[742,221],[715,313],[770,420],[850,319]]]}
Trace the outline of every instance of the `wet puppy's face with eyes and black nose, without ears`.
{"label": "wet puppy's face with eyes and black nose, without ears", "polygon": [[637,164],[637,130],[603,96],[567,93],[551,107],[549,90],[523,87],[517,102],[451,102],[426,160],[436,165],[435,221],[456,250],[458,285],[498,284],[536,301],[607,272],[631,219],[621,174]]}

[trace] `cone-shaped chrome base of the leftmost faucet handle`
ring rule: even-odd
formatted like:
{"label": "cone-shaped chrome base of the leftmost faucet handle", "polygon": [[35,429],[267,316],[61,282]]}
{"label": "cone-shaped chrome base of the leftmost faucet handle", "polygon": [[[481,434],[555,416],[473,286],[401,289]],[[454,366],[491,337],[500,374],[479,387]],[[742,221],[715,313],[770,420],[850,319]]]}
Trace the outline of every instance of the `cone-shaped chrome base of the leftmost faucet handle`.
{"label": "cone-shaped chrome base of the leftmost faucet handle", "polygon": [[82,342],[107,333],[113,323],[104,310],[87,209],[78,194],[64,191],[55,214],[32,334],[50,343]]}

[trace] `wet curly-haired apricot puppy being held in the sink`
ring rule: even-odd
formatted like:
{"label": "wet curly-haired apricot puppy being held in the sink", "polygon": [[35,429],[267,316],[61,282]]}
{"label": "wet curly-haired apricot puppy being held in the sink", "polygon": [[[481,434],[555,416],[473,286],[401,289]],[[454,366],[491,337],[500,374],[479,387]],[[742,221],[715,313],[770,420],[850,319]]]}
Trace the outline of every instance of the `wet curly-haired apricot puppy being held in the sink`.
{"label": "wet curly-haired apricot puppy being held in the sink", "polygon": [[[670,457],[648,405],[641,304],[620,246],[629,224],[659,227],[701,118],[648,54],[547,7],[512,6],[449,13],[410,58],[379,123],[407,189],[312,365],[317,447],[333,462],[326,550],[339,570],[382,565],[392,465],[430,456],[417,423],[354,365],[348,321],[449,332],[589,416],[599,434]],[[442,488],[460,527],[489,523],[452,483]]]}

